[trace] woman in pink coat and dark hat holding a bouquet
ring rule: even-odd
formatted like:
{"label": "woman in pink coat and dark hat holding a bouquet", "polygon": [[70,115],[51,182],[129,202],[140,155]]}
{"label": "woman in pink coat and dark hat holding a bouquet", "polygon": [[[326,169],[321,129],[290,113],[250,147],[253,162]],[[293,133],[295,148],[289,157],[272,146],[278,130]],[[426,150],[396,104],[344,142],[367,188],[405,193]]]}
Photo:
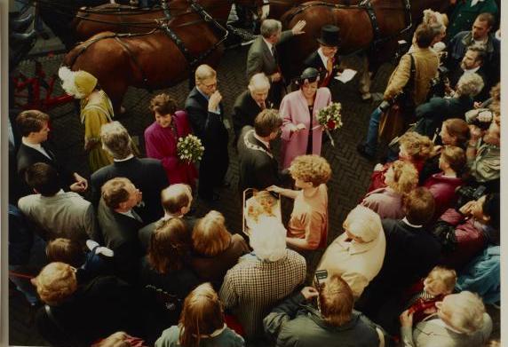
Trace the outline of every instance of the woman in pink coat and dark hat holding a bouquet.
{"label": "woman in pink coat and dark hat holding a bouquet", "polygon": [[300,89],[282,99],[282,169],[298,155],[321,155],[322,128],[316,115],[331,103],[331,93],[326,87],[318,89],[319,79],[319,71],[307,67],[297,81]]}

